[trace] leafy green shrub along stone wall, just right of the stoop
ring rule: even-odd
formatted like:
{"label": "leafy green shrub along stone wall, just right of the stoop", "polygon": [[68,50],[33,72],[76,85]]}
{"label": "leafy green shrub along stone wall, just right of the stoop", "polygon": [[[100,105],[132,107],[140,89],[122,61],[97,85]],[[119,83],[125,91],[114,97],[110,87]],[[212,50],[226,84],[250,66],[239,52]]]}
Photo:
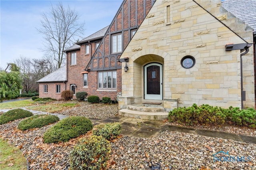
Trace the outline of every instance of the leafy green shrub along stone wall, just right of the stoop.
{"label": "leafy green shrub along stone wall, just right of the stoop", "polygon": [[197,106],[195,103],[191,107],[180,107],[173,109],[168,114],[170,122],[178,121],[186,125],[201,123],[207,124],[223,124],[225,123],[226,115],[222,113],[220,107],[212,107],[210,105]]}

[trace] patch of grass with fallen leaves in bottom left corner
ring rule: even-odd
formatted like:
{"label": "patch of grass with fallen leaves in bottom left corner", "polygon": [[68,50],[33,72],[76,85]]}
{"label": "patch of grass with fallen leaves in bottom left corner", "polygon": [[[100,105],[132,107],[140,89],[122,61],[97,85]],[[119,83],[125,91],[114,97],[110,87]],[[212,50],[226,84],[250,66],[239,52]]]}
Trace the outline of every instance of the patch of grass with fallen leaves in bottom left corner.
{"label": "patch of grass with fallen leaves in bottom left corner", "polygon": [[19,148],[0,138],[0,170],[26,170],[27,161]]}

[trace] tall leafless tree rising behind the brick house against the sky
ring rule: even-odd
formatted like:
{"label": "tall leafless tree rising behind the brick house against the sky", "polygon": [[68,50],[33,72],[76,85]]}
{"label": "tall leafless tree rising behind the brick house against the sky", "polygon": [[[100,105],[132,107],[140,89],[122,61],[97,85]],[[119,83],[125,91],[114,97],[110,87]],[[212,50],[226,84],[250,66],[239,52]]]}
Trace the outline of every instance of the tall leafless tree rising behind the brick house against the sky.
{"label": "tall leafless tree rising behind the brick house against the sky", "polygon": [[[64,49],[70,47],[83,34],[84,23],[78,23],[78,13],[61,2],[52,6],[49,13],[42,14],[41,26],[37,29],[44,36],[44,49],[58,63],[58,68],[66,59]],[[81,37],[82,38],[82,37]]]}

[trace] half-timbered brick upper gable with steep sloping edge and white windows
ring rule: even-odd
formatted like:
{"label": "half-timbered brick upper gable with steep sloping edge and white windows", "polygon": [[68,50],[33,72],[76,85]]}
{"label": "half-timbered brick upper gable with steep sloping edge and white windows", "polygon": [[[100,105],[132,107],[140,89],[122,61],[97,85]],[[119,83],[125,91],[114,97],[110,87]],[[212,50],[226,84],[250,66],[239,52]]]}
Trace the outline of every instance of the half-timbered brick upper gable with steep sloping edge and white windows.
{"label": "half-timbered brick upper gable with steep sloping edge and white windows", "polygon": [[155,0],[124,0],[100,42],[86,71],[121,69],[119,57],[148,14]]}

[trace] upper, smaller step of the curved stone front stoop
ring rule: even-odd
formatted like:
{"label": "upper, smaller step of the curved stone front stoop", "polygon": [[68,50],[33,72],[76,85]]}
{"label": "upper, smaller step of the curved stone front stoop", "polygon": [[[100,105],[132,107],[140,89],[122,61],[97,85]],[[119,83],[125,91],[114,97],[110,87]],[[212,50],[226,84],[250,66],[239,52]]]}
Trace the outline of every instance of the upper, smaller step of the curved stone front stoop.
{"label": "upper, smaller step of the curved stone front stoop", "polygon": [[132,111],[140,111],[140,112],[164,112],[164,106],[163,105],[148,105],[148,104],[132,104],[127,105],[128,110]]}

